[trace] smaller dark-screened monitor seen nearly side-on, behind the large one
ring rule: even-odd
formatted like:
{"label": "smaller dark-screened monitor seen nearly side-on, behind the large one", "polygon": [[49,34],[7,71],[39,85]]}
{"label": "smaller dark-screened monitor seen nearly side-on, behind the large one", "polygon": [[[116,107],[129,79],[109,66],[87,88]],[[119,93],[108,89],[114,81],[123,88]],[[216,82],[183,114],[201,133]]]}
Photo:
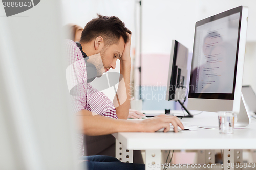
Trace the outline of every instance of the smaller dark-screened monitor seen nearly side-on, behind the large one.
{"label": "smaller dark-screened monitor seen nearly side-on, behind the large one", "polygon": [[166,100],[175,100],[181,104],[188,113],[187,116],[182,117],[193,117],[183,105],[184,103],[181,102],[181,100],[187,98],[187,60],[188,48],[178,41],[173,40],[170,53]]}

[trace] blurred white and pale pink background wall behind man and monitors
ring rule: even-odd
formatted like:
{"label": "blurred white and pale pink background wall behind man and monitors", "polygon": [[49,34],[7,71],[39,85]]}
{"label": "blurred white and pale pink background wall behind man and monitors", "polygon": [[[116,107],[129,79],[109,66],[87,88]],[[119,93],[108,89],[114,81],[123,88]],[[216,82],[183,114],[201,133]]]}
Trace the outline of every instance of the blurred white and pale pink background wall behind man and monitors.
{"label": "blurred white and pale pink background wall behind man and monitors", "polygon": [[[65,23],[84,26],[96,17],[96,13],[116,15],[132,30],[132,55],[135,54],[133,68],[135,85],[139,84],[139,5],[137,1],[62,0],[65,7]],[[142,1],[142,85],[162,85],[167,81],[165,74],[173,39],[189,48],[192,53],[195,23],[206,17],[245,5],[249,7],[249,21],[243,84],[251,85],[256,91],[256,1],[254,0],[144,0]],[[154,57],[153,57],[154,56]],[[120,69],[117,65],[116,71]],[[161,72],[161,74],[159,74]],[[151,79],[147,81],[147,79]],[[166,80],[166,81],[165,81]],[[158,84],[157,84],[158,83]],[[137,91],[138,98],[138,91]],[[157,108],[156,108],[157,109]]]}

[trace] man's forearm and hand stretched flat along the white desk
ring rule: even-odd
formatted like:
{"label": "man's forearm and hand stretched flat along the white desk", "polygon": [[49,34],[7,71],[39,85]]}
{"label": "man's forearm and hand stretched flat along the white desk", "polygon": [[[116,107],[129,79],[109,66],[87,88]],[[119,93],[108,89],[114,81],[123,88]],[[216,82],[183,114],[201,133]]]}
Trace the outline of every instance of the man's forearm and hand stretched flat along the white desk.
{"label": "man's forearm and hand stretched flat along the white desk", "polygon": [[76,113],[78,130],[82,134],[96,136],[117,132],[155,132],[165,128],[170,129],[170,123],[177,132],[177,125],[184,129],[180,120],[175,116],[159,115],[141,121],[112,119],[100,115],[93,116],[91,111],[81,110]]}

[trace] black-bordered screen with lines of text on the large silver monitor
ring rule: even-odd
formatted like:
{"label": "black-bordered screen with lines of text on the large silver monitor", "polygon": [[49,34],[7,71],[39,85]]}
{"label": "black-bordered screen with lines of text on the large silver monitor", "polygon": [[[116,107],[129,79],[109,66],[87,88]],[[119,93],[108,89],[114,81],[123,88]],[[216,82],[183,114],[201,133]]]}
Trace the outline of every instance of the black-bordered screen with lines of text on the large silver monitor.
{"label": "black-bordered screen with lines of text on the large silver monitor", "polygon": [[234,99],[240,16],[231,11],[196,23],[190,98]]}

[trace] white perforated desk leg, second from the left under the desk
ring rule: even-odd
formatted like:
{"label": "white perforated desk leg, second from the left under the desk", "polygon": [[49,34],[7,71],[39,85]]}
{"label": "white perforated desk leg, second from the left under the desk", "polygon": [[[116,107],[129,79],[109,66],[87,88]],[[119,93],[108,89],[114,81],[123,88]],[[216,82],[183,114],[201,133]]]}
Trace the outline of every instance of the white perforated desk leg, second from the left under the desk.
{"label": "white perforated desk leg, second from the left under the desk", "polygon": [[161,170],[161,150],[146,150],[145,170]]}

